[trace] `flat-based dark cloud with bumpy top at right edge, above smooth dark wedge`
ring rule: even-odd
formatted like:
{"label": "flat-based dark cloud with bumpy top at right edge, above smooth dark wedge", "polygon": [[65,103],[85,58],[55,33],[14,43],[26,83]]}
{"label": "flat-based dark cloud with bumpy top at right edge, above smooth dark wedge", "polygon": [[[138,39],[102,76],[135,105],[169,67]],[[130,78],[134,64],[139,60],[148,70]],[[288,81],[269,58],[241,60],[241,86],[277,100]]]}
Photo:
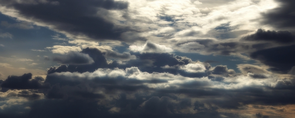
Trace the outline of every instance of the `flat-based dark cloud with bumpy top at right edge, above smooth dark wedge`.
{"label": "flat-based dark cloud with bumpy top at right edge, above smooth dark wedge", "polygon": [[279,43],[291,43],[295,41],[295,35],[289,31],[265,31],[258,29],[255,34],[248,35],[242,39],[247,41],[274,41]]}

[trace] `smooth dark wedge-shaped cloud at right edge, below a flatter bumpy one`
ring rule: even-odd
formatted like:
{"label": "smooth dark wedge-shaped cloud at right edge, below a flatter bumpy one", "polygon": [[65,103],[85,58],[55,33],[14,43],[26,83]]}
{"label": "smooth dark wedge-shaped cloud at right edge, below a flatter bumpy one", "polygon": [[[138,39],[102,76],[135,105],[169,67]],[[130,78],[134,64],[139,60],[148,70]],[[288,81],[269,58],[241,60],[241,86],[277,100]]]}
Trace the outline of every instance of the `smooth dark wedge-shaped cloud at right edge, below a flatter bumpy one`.
{"label": "smooth dark wedge-shaped cloud at right edge, below a flatter bumpy one", "polygon": [[281,46],[259,50],[250,54],[250,57],[269,65],[271,70],[287,73],[295,66],[295,45]]}

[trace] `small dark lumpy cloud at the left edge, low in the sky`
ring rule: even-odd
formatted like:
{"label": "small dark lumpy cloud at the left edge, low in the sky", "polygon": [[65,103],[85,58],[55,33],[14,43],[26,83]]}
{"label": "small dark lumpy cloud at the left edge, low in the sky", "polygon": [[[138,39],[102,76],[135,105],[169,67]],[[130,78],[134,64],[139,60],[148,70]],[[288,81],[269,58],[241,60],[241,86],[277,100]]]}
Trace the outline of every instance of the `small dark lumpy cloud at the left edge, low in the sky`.
{"label": "small dark lumpy cloud at the left edge, low in the sky", "polygon": [[39,80],[32,79],[32,74],[24,74],[22,76],[8,76],[0,85],[2,88],[9,89],[42,89],[48,88],[47,84],[39,83]]}

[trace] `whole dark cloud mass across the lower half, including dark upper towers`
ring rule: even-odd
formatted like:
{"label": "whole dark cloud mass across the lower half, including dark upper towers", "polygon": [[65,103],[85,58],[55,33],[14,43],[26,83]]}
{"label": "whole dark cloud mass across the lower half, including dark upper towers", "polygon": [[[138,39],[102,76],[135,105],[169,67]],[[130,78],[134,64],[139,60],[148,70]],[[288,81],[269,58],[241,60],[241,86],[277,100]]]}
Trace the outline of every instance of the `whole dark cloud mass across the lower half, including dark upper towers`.
{"label": "whole dark cloud mass across the lower half, including dark upper towers", "polygon": [[[250,104],[295,104],[294,79],[269,79],[269,75],[261,74],[267,70],[259,66],[238,65],[246,74],[235,75],[227,66],[211,67],[208,63],[170,53],[131,52],[136,60],[122,62],[108,61],[105,53],[98,49],[86,48],[81,53],[88,54],[94,63],[51,67],[46,79],[40,76],[32,79],[31,73],[9,76],[1,83],[1,87],[8,90],[0,95],[28,100],[30,111],[24,115],[32,118],[235,118],[240,114],[217,109],[242,110]],[[218,76],[208,78],[211,74]],[[253,85],[226,79],[234,76],[248,77],[246,81],[253,81]],[[254,84],[259,81],[263,82]],[[273,82],[273,86],[263,84],[269,82]],[[236,88],[237,85],[240,87]]]}

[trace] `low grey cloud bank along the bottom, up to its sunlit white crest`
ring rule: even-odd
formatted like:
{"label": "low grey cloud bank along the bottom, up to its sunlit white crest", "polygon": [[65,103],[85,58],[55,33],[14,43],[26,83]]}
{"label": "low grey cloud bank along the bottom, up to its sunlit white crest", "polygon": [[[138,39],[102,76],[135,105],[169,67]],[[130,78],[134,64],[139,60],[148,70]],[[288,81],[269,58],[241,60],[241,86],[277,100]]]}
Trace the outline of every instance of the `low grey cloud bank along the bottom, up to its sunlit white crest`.
{"label": "low grey cloud bank along the bottom, up to its sunlit white crest", "polygon": [[[151,55],[151,53],[146,55]],[[174,56],[171,55],[171,57]],[[58,68],[65,69],[66,65],[61,65]],[[52,68],[51,71],[58,68]],[[219,65],[215,71],[226,72],[226,66]],[[170,81],[169,83],[167,79]],[[172,83],[173,81],[170,79],[181,82]],[[265,80],[265,82],[267,81]],[[76,110],[80,114],[74,113],[75,116],[87,116],[80,111],[81,108],[90,109],[93,107],[95,110],[88,111],[88,115],[219,118],[222,117],[221,114],[236,117],[235,114],[217,112],[216,110],[219,108],[240,109],[247,104],[295,104],[293,99],[290,99],[294,98],[294,79],[278,79],[274,83],[275,87],[247,85],[224,89],[213,86],[230,87],[234,84],[238,85],[238,83],[211,81],[206,77],[195,78],[195,76],[192,79],[166,72],[146,73],[141,72],[137,67],[132,67],[125,70],[98,68],[93,73],[55,72],[48,74],[44,83],[50,83],[51,88],[43,90],[44,100],[35,101],[33,105],[30,105],[32,117],[37,117],[34,115],[45,113],[45,111],[49,113],[48,117],[55,116],[60,112],[60,110],[55,110],[56,107],[63,108],[61,114],[64,116],[71,116],[72,114],[67,112]],[[147,86],[148,84],[152,86]],[[159,87],[153,88],[153,84]],[[169,86],[161,87],[161,84]],[[24,91],[24,93],[26,92],[28,91]],[[185,97],[180,97],[179,94],[185,95]],[[288,94],[288,96],[284,96],[284,94]],[[131,96],[131,98],[127,99],[127,96]],[[193,101],[193,98],[201,99]],[[90,104],[91,106],[89,106]],[[120,110],[111,115],[109,110],[113,107]]]}

